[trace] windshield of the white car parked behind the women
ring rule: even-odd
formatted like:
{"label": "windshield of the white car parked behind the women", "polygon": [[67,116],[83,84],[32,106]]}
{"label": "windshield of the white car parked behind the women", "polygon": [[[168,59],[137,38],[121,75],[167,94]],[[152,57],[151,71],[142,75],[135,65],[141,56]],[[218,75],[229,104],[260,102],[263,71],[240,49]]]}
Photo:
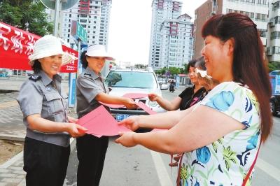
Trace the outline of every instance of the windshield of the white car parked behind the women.
{"label": "windshield of the white car parked behind the women", "polygon": [[106,81],[109,87],[155,88],[154,73],[138,71],[110,71]]}

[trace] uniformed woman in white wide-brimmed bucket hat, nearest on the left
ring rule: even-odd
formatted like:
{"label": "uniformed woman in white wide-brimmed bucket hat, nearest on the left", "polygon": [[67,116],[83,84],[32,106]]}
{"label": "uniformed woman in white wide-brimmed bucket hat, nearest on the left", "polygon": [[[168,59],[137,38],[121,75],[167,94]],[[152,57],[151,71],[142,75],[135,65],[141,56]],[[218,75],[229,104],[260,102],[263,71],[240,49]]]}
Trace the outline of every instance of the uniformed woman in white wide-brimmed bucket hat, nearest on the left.
{"label": "uniformed woman in white wide-brimmed bucket hat, nearest on the left", "polygon": [[[20,89],[18,103],[27,126],[24,167],[28,185],[63,185],[69,160],[69,134],[83,136],[86,129],[67,117],[66,94],[61,88],[60,66],[71,62],[54,36],[36,41],[29,56],[34,74]],[[71,123],[69,123],[71,122]]]}

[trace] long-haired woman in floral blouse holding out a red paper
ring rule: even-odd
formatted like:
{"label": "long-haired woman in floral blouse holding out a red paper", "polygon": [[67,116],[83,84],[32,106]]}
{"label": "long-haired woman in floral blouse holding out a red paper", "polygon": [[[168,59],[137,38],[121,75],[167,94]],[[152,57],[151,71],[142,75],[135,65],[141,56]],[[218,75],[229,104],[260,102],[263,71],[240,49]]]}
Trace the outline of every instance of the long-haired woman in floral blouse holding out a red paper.
{"label": "long-haired woman in floral blouse holding out a red paper", "polygon": [[126,132],[116,142],[158,152],[184,152],[179,185],[242,185],[260,142],[272,129],[262,41],[254,22],[237,13],[211,17],[202,37],[207,74],[220,84],[188,110],[123,120],[120,124],[132,130],[169,130]]}

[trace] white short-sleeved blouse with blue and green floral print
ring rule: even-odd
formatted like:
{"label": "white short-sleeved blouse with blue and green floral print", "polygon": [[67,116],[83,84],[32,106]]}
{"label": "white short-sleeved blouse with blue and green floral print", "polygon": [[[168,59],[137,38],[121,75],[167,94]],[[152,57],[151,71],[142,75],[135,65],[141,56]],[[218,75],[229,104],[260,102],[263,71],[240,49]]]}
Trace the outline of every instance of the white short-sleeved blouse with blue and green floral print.
{"label": "white short-sleeved blouse with blue and green floral print", "polygon": [[[181,185],[242,185],[260,145],[258,101],[248,88],[225,82],[198,104],[214,108],[246,127],[202,148],[185,152],[181,162]],[[246,185],[251,185],[251,178]]]}

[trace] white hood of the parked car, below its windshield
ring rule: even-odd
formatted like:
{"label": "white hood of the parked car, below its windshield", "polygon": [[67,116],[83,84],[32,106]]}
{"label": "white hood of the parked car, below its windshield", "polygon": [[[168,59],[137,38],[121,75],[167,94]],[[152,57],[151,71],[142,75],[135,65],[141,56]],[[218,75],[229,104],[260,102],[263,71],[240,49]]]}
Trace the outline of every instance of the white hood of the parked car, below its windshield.
{"label": "white hood of the parked car, below its windshield", "polygon": [[128,93],[141,93],[141,94],[150,94],[155,93],[158,95],[162,95],[159,89],[139,89],[139,88],[125,88],[125,87],[111,87],[112,90],[109,93],[113,96],[123,96],[124,94]]}

